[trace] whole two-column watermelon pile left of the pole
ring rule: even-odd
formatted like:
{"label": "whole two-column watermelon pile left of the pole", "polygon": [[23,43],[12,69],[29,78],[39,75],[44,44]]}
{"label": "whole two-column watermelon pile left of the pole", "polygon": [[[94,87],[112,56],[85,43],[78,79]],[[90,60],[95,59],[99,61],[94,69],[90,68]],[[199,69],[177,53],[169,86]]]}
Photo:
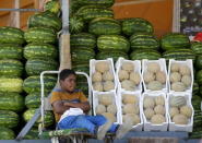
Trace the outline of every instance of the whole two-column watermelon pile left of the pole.
{"label": "whole two-column watermelon pile left of the pole", "polygon": [[[28,19],[25,32],[0,27],[0,140],[14,139],[40,106],[40,72],[58,70],[57,33],[61,20],[58,2],[51,3],[47,3],[45,12]],[[56,75],[45,76],[46,95],[56,82]],[[39,122],[40,119],[25,139],[38,139]],[[45,126],[54,123],[52,111],[47,111]]]}

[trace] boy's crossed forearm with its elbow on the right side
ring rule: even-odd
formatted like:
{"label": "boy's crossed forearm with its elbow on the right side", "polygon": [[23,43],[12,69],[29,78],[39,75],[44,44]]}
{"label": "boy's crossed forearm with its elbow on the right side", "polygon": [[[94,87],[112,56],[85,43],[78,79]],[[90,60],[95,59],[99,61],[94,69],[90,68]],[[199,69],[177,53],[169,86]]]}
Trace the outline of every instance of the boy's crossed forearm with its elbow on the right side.
{"label": "boy's crossed forearm with its elbow on the right side", "polygon": [[83,103],[64,103],[66,107],[81,108],[84,112],[88,112],[91,109],[88,102]]}

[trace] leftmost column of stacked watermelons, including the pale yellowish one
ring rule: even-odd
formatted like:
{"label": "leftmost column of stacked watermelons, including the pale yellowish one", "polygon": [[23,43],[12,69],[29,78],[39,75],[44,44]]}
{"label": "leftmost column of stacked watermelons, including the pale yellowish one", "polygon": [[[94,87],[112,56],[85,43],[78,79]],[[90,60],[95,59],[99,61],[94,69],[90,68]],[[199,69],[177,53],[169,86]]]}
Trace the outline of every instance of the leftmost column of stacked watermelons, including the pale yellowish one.
{"label": "leftmost column of stacked watermelons, including the pale yellowish one", "polygon": [[14,27],[0,27],[0,140],[15,138],[24,108],[22,62],[24,32]]}

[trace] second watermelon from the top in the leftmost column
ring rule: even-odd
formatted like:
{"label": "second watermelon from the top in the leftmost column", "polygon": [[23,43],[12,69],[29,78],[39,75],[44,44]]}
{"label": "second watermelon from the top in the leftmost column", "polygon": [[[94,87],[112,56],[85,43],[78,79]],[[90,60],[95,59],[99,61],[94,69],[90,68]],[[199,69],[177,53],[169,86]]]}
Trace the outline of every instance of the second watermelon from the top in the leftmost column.
{"label": "second watermelon from the top in the leftmost column", "polygon": [[17,45],[1,44],[0,59],[22,59],[23,47]]}

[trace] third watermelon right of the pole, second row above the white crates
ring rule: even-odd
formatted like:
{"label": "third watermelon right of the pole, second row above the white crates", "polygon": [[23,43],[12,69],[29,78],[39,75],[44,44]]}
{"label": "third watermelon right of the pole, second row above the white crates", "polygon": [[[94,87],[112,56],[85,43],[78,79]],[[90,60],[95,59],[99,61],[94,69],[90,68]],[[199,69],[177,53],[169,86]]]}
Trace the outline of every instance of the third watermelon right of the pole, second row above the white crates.
{"label": "third watermelon right of the pole, second row above the white crates", "polygon": [[130,37],[131,49],[158,49],[159,41],[153,34],[136,33]]}

